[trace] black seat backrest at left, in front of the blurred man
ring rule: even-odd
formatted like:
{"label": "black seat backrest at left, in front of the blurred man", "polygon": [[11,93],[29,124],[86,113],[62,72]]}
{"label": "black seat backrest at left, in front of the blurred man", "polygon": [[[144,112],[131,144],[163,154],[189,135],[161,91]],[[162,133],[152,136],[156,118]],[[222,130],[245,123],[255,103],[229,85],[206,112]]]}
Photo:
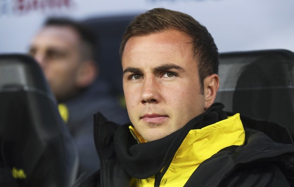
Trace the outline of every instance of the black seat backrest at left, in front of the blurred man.
{"label": "black seat backrest at left, in front of the blurred man", "polygon": [[70,186],[78,153],[38,64],[0,55],[0,162],[19,186]]}

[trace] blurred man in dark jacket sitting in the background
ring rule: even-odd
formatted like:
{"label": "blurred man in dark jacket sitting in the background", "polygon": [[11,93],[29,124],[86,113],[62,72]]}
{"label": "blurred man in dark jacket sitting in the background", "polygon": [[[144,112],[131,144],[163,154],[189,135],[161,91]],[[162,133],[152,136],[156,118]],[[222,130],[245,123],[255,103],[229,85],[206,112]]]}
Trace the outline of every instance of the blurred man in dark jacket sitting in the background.
{"label": "blurred man in dark jacket sitting in the background", "polygon": [[61,116],[77,143],[79,174],[100,168],[93,139],[93,113],[99,111],[119,124],[129,122],[126,109],[110,94],[110,85],[97,80],[94,42],[93,34],[82,24],[68,18],[50,18],[29,49],[43,69]]}

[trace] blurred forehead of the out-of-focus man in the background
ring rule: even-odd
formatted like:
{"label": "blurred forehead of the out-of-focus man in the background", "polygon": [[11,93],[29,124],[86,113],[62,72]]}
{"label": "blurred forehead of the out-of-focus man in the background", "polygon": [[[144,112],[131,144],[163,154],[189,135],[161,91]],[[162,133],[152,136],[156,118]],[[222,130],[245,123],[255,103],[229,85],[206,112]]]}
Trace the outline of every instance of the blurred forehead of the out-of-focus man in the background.
{"label": "blurred forehead of the out-of-focus man in the background", "polygon": [[69,26],[45,26],[34,37],[32,45],[40,46],[76,46],[78,33]]}

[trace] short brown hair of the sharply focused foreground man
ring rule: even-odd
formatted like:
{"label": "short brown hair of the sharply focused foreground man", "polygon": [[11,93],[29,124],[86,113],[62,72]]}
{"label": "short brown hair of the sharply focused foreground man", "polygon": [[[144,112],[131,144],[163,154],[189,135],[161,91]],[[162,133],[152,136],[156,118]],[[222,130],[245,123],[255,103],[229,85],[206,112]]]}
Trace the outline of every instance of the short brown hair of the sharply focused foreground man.
{"label": "short brown hair of the sharply focused foreground man", "polygon": [[148,35],[167,29],[176,29],[190,36],[194,57],[198,60],[201,92],[204,92],[204,78],[218,73],[218,49],[207,28],[191,16],[163,8],[152,9],[138,15],[127,26],[120,46],[122,57],[127,41],[133,36]]}

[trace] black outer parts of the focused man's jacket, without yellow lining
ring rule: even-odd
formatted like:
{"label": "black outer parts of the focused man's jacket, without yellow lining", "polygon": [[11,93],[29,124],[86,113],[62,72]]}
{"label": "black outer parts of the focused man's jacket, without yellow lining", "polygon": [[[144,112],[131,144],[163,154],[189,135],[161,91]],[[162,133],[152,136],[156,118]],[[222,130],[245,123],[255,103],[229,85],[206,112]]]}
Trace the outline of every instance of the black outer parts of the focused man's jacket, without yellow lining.
{"label": "black outer parts of the focused man's jacket, without yellow lining", "polygon": [[[231,115],[231,114],[229,114]],[[115,123],[95,115],[95,143],[101,170],[82,176],[74,187],[126,187],[130,178],[116,157]],[[294,145],[287,129],[275,123],[241,116],[244,145],[229,146],[204,161],[184,187],[294,186]]]}

